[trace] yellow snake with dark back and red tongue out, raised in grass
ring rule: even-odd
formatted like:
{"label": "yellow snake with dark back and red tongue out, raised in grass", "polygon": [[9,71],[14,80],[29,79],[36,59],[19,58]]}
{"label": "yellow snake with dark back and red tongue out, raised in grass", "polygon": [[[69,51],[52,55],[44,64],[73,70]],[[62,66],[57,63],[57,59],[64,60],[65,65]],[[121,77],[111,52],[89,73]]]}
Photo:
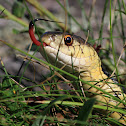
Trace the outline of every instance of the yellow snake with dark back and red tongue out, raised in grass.
{"label": "yellow snake with dark back and red tongue out, raised in grass", "polygon": [[[114,100],[106,93],[98,90],[94,86],[82,83],[84,91],[88,91],[89,97],[97,99],[96,104],[109,107],[120,107],[125,109],[126,94],[122,92],[120,86],[115,84],[113,79],[109,78],[101,67],[101,60],[95,49],[80,36],[72,35],[64,32],[48,31],[41,36],[41,41],[37,40],[34,35],[35,22],[42,19],[34,19],[29,23],[29,35],[33,43],[40,46],[39,51],[43,55],[46,52],[48,59],[52,64],[57,60],[58,67],[65,65],[64,70],[67,72],[76,71],[77,75],[84,81],[89,82],[97,88],[100,88],[114,98],[118,98],[123,102]],[[44,48],[44,49],[43,49]],[[45,55],[44,55],[45,56]],[[73,85],[75,89],[77,88]],[[109,116],[121,124],[126,125],[126,115],[108,111]]]}

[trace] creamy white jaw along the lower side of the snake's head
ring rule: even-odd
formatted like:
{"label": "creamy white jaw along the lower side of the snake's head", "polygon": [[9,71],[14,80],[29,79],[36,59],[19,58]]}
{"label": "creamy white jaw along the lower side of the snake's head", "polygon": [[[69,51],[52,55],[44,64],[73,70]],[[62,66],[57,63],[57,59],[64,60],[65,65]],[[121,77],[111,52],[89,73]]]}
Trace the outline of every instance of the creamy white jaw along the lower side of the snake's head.
{"label": "creamy white jaw along the lower side of the snake's head", "polygon": [[[57,59],[57,62],[58,62],[58,64],[60,64],[59,65],[60,67],[62,67],[63,65],[67,65],[69,68],[72,68],[71,64],[73,64],[75,69],[79,69],[78,67],[85,65],[84,58],[71,57],[70,55],[66,55],[63,52],[61,52],[60,49],[58,50],[57,49],[58,47],[53,48],[51,45],[53,45],[53,44],[44,46],[44,50],[45,50],[46,54],[48,55],[48,59],[50,59],[50,62],[52,64],[55,63],[55,61]],[[40,52],[43,55],[43,49],[41,49]],[[79,66],[78,66],[78,64],[79,64]],[[67,70],[70,71],[70,69],[67,69]]]}

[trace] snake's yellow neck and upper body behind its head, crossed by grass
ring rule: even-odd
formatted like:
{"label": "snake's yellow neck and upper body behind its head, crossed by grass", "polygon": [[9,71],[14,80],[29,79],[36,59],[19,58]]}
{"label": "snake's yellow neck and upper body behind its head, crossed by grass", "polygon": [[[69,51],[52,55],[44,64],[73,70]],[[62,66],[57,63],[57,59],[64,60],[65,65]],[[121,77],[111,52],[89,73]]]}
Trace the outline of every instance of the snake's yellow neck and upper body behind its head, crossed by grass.
{"label": "snake's yellow neck and upper body behind its head, crossed by grass", "polygon": [[[122,94],[121,88],[115,84],[115,82],[109,78],[104,72],[102,71],[101,66],[95,66],[94,69],[89,69],[86,72],[83,72],[80,75],[81,79],[84,81],[87,81],[88,83],[95,85],[96,87],[106,91],[107,93],[110,93],[111,95],[118,97],[121,100],[124,100],[125,95]],[[92,96],[93,93],[97,94],[104,94],[102,91],[88,85],[83,84],[84,90],[87,90],[89,92],[89,96]],[[99,101],[103,101],[105,103],[110,103],[114,106],[118,104],[118,102],[113,102],[109,98],[106,98],[104,96],[96,95],[95,97]],[[106,94],[104,94],[106,95]],[[123,104],[118,105],[120,107],[124,107]]]}

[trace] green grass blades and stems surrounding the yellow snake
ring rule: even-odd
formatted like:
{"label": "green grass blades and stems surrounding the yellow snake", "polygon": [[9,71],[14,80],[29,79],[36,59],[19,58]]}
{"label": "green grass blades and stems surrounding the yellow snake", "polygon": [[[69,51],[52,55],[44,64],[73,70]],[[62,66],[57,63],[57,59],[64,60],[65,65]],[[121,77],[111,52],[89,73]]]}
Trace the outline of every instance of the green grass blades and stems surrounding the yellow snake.
{"label": "green grass blades and stems surrounding the yellow snake", "polygon": [[[32,15],[32,12],[29,10],[29,6],[27,6],[27,3],[30,3],[33,8],[35,8],[39,14],[43,14],[52,21],[56,21],[53,23],[56,27],[60,28],[61,30],[69,31],[70,33],[73,33],[72,31],[72,23],[75,23],[77,28],[80,29],[86,36],[88,35],[88,30],[90,31],[88,41],[92,43],[92,45],[98,40],[98,44],[103,44],[103,40],[108,40],[109,45],[106,46],[104,50],[101,50],[99,52],[100,56],[104,55],[103,60],[103,66],[105,66],[107,71],[110,71],[111,73],[115,71],[118,81],[120,82],[120,79],[123,80],[122,84],[125,87],[126,80],[125,80],[125,73],[124,75],[120,74],[120,65],[119,62],[123,62],[122,69],[125,69],[125,59],[126,57],[121,57],[119,60],[119,56],[121,56],[123,53],[126,54],[125,48],[122,47],[122,53],[120,55],[117,55],[117,52],[115,50],[115,39],[120,38],[123,41],[123,45],[125,45],[125,32],[124,32],[124,19],[123,17],[126,14],[126,7],[124,4],[124,1],[117,1],[116,8],[115,8],[115,1],[108,1],[106,0],[104,3],[102,18],[101,18],[101,24],[97,24],[98,28],[98,36],[99,38],[95,38],[95,33],[93,32],[92,27],[92,18],[94,18],[93,15],[96,13],[95,8],[95,0],[91,4],[91,8],[89,10],[89,15],[86,13],[85,8],[83,8],[82,0],[78,1],[78,5],[80,5],[81,8],[81,14],[82,14],[82,22],[84,24],[85,20],[87,22],[87,28],[84,28],[82,24],[80,24],[76,17],[72,16],[70,13],[70,5],[69,1],[66,0],[65,6],[60,3],[59,0],[56,0],[59,6],[64,10],[64,13],[66,14],[65,20],[70,23],[70,27],[65,26],[66,24],[58,23],[61,22],[58,20],[53,13],[49,12],[47,9],[45,9],[40,3],[33,0],[27,0],[24,1],[22,4],[24,4],[26,11],[30,15],[30,20],[33,19],[34,15]],[[113,5],[113,6],[112,6]],[[121,8],[123,7],[123,9]],[[66,10],[67,8],[67,10]],[[0,5],[0,10],[2,11],[4,7]],[[114,10],[114,11],[112,11]],[[115,11],[116,10],[116,11]],[[18,10],[16,10],[18,11]],[[104,27],[105,27],[105,15],[107,15],[107,11],[109,11],[109,24],[110,29],[109,37],[103,38],[104,33]],[[117,14],[118,13],[118,14]],[[8,19],[13,20],[21,24],[22,26],[28,28],[28,24],[22,19],[19,19],[12,13],[10,13],[7,9],[1,13],[1,18],[5,18],[2,16],[5,14]],[[85,17],[85,18],[84,18]],[[118,19],[117,19],[118,17]],[[44,17],[45,18],[45,17]],[[97,19],[97,17],[96,17]],[[27,19],[29,22],[29,20]],[[118,23],[119,22],[119,23]],[[52,25],[49,22],[42,22],[48,27],[48,29],[53,30]],[[44,32],[46,29],[41,30],[40,28],[37,28],[37,34],[38,36],[40,32]],[[114,30],[117,30],[117,35],[114,35]],[[18,32],[20,34],[20,32]],[[4,65],[4,62],[2,59],[1,70],[4,71],[4,75],[0,75],[1,83],[0,83],[0,124],[1,125],[25,125],[25,126],[42,126],[42,125],[108,125],[111,123],[120,125],[121,124],[118,121],[115,121],[114,119],[109,117],[109,114],[103,114],[99,112],[100,110],[109,110],[109,111],[117,111],[123,114],[126,114],[126,111],[124,111],[121,108],[111,108],[106,106],[100,106],[95,105],[95,99],[90,99],[88,97],[83,97],[83,94],[81,90],[66,90],[61,89],[59,85],[61,83],[64,83],[65,85],[71,85],[70,81],[62,81],[61,78],[63,78],[63,75],[67,75],[72,77],[75,81],[74,83],[79,84],[80,81],[83,83],[86,83],[102,92],[104,94],[107,94],[107,97],[111,97],[114,100],[126,104],[124,101],[121,101],[120,99],[112,96],[111,94],[107,93],[106,91],[96,87],[95,85],[91,85],[90,82],[85,82],[82,79],[79,79],[78,77],[57,68],[56,66],[51,65],[50,63],[43,61],[39,58],[37,58],[34,54],[38,50],[34,52],[33,55],[30,55],[28,52],[22,51],[21,49],[15,47],[14,45],[11,45],[7,43],[4,40],[0,40],[3,44],[9,46],[10,48],[19,51],[25,60],[28,60],[28,62],[24,65],[25,68],[23,71],[27,71],[29,64],[31,63],[38,63],[40,67],[44,65],[46,68],[50,70],[50,74],[48,76],[44,76],[45,80],[44,82],[36,83],[36,81],[33,79],[29,79],[24,77],[24,72],[21,76],[13,76],[9,74],[9,72],[6,70],[6,67]],[[126,45],[125,45],[126,46]],[[111,50],[109,50],[111,48]],[[113,58],[110,58],[109,55],[112,55]],[[126,56],[126,55],[125,55]],[[113,63],[114,60],[114,63]],[[34,73],[33,73],[34,74]],[[114,75],[113,75],[114,76]],[[25,87],[22,84],[22,80],[26,80],[27,83],[32,82],[33,86]],[[60,80],[60,81],[59,81]],[[120,83],[119,83],[120,84]],[[121,85],[121,84],[120,84]],[[41,91],[34,91],[33,89],[35,87],[40,87]],[[83,102],[83,103],[82,103]],[[93,113],[92,113],[93,110]]]}

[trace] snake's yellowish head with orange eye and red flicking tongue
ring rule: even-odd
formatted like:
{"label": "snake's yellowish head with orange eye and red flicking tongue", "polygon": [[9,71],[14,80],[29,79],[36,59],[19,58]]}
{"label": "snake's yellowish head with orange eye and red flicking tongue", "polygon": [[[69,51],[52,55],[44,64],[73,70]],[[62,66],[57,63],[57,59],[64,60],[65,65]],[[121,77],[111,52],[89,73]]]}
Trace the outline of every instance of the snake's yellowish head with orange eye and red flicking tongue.
{"label": "snake's yellowish head with orange eye and red flicking tongue", "polygon": [[41,19],[30,22],[29,35],[33,43],[40,46],[41,54],[46,52],[51,63],[55,64],[57,60],[58,64],[74,66],[75,69],[83,68],[83,70],[98,64],[96,63],[99,62],[97,52],[79,36],[62,32],[46,32],[41,36],[42,43],[38,41],[33,32],[34,22],[38,20]]}

